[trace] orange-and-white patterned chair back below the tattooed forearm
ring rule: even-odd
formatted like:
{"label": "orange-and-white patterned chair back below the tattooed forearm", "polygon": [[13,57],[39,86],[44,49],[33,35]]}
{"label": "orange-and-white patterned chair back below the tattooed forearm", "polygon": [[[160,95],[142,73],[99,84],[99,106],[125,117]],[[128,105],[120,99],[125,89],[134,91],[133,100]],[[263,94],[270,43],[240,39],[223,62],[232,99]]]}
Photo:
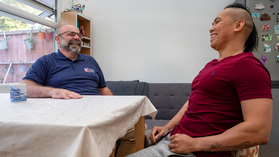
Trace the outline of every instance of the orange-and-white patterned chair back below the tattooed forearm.
{"label": "orange-and-white patterned chair back below the tattooed forearm", "polygon": [[227,157],[258,157],[259,146],[230,151]]}

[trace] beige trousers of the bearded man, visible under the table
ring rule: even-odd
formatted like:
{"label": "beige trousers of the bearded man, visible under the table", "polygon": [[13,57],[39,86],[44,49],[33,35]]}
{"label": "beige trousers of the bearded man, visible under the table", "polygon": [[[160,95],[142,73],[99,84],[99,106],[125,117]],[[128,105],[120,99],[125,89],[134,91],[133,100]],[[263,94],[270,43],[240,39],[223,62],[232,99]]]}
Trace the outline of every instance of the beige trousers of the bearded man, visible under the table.
{"label": "beige trousers of the bearded man, visible under the table", "polygon": [[[147,130],[147,125],[145,124],[145,131]],[[135,126],[129,129],[125,136],[119,138],[122,139],[116,157],[124,157],[133,153],[136,153],[136,139],[135,139]],[[115,153],[116,143],[112,150],[112,154]]]}

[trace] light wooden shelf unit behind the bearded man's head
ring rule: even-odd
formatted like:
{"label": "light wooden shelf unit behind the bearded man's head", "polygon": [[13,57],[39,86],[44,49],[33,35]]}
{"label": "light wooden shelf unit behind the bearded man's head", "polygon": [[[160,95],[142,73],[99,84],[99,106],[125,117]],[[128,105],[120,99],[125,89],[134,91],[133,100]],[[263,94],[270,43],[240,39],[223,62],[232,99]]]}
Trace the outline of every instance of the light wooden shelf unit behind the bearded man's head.
{"label": "light wooden shelf unit behind the bearded man's head", "polygon": [[82,25],[85,31],[86,37],[83,37],[83,42],[89,43],[89,47],[81,46],[80,53],[91,56],[91,19],[76,11],[61,12],[61,26],[73,25],[77,27],[77,20],[79,20],[79,26]]}

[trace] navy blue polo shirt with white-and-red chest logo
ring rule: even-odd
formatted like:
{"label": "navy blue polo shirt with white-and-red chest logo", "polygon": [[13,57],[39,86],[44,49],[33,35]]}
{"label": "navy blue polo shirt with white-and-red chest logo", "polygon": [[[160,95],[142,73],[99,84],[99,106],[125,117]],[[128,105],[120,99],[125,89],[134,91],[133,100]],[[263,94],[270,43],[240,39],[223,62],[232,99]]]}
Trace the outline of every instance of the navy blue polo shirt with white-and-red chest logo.
{"label": "navy blue polo shirt with white-and-red chest logo", "polygon": [[37,59],[22,80],[81,95],[100,95],[98,88],[106,87],[102,70],[92,56],[79,54],[72,61],[59,50]]}

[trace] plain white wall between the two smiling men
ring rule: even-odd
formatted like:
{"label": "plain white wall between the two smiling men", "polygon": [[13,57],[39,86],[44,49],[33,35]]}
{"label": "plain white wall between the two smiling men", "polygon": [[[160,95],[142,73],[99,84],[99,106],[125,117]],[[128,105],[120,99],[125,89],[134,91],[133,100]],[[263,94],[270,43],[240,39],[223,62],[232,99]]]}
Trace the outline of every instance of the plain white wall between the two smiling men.
{"label": "plain white wall between the two smiling men", "polygon": [[[218,59],[209,28],[234,0],[88,0],[92,55],[106,81],[191,83]],[[62,0],[64,8],[70,8]]]}

